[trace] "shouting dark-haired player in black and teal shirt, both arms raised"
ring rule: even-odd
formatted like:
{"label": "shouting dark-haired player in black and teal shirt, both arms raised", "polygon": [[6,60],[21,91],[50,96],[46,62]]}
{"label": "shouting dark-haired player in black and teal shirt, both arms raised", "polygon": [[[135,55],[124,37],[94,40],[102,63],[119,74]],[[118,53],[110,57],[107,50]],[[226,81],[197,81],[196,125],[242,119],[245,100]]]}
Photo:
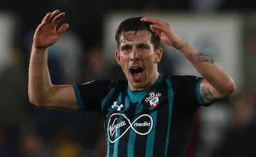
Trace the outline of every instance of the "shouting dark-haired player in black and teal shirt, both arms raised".
{"label": "shouting dark-haired player in black and teal shirt, both arms raised", "polygon": [[[65,13],[48,13],[33,37],[28,96],[38,107],[92,110],[104,117],[106,156],[184,156],[198,107],[228,97],[233,79],[207,55],[182,40],[169,23],[129,18],[117,28],[115,58],[126,80],[52,85],[48,48],[67,31]],[[160,40],[177,48],[203,77],[159,74]],[[168,68],[168,67],[166,67]]]}

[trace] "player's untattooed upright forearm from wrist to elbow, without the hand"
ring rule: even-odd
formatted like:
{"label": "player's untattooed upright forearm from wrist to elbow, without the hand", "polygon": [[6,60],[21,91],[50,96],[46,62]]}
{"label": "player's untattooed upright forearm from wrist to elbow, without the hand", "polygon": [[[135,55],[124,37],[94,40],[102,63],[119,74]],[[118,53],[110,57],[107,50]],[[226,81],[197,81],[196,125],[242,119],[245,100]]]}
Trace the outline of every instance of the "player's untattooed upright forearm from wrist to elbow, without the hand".
{"label": "player's untattooed upright forearm from wrist to elbow, without the hand", "polygon": [[48,48],[32,47],[28,68],[28,97],[33,104],[43,104],[47,99],[46,92],[52,86],[47,60]]}

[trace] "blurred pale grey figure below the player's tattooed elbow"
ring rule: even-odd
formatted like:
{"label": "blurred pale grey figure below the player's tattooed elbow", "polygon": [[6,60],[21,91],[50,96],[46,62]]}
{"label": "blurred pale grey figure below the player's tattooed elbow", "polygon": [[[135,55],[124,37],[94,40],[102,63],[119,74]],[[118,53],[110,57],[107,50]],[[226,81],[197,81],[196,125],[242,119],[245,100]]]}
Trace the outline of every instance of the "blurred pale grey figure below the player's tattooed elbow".
{"label": "blurred pale grey figure below the player's tattooed elbow", "polygon": [[213,149],[223,142],[225,130],[230,124],[230,102],[224,99],[213,106],[198,109],[197,116],[192,136],[195,145],[193,155],[215,157],[211,156]]}

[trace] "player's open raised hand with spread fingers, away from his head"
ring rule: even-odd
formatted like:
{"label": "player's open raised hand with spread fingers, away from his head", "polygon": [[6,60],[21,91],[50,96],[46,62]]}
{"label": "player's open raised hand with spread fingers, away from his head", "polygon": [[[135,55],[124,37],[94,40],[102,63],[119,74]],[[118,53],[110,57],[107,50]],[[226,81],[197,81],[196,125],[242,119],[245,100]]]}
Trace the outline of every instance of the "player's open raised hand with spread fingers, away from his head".
{"label": "player's open raised hand with spread fingers, away from his head", "polygon": [[60,23],[60,20],[64,16],[65,13],[60,13],[58,10],[46,14],[34,33],[34,48],[48,48],[48,46],[53,45],[67,31],[68,23],[64,23],[60,28],[57,28],[58,23]]}

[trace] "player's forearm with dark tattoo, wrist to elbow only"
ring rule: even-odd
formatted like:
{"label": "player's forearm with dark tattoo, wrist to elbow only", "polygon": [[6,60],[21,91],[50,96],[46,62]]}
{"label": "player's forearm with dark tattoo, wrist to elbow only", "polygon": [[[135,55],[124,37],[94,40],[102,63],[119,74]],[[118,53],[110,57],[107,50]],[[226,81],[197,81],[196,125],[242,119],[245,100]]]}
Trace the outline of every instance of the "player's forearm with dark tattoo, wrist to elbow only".
{"label": "player's forearm with dark tattoo, wrist to elbow only", "polygon": [[233,92],[235,89],[233,79],[212,58],[198,52],[188,43],[184,43],[179,50],[216,91],[223,96]]}

